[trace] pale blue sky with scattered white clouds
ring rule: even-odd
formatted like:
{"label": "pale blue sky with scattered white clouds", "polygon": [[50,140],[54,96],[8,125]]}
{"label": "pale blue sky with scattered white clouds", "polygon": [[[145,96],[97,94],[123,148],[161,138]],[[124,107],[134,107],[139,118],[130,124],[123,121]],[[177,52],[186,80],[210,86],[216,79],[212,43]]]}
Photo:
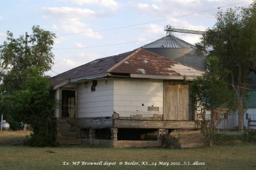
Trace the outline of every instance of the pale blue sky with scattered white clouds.
{"label": "pale blue sky with scattered white clouds", "polygon": [[[13,32],[16,38],[26,31],[30,34],[33,25],[54,32],[54,65],[46,74],[55,76],[160,39],[166,36],[164,25],[204,31],[213,27],[218,10],[250,3],[248,0],[2,0],[0,45],[6,39],[6,31]],[[173,34],[191,44],[200,41],[200,35]]]}

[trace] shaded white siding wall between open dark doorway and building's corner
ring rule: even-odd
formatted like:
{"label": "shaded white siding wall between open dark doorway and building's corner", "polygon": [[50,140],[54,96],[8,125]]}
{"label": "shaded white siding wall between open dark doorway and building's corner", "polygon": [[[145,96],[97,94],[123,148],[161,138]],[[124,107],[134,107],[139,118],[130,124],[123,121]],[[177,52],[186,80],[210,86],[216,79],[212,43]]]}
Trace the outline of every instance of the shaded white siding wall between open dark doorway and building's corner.
{"label": "shaded white siding wall between open dark doorway and building's corner", "polygon": [[111,117],[113,115],[113,79],[97,80],[92,92],[92,81],[77,87],[77,118]]}

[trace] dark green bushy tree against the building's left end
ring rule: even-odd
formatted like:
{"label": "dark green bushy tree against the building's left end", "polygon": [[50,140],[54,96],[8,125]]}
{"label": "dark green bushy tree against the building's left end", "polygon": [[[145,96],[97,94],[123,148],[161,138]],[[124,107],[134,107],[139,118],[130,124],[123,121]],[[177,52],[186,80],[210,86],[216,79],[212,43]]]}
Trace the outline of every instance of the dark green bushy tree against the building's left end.
{"label": "dark green bushy tree against the building's left end", "polygon": [[36,68],[24,80],[22,89],[6,96],[13,117],[31,125],[31,146],[55,146],[56,120],[53,115],[54,97],[51,96],[49,78]]}

